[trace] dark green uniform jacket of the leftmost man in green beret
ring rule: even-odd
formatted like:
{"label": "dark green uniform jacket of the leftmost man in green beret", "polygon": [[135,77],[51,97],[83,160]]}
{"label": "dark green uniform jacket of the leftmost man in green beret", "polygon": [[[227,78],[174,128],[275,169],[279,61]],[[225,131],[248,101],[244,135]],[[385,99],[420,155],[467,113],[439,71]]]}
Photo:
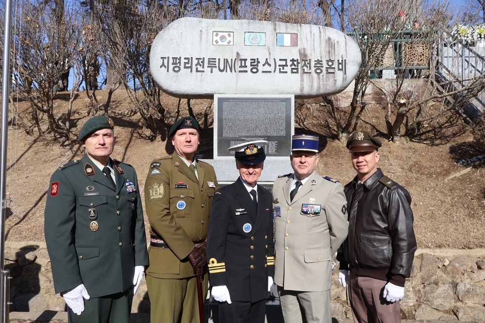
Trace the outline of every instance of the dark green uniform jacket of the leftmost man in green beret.
{"label": "dark green uniform jacket of the leftmost man in green beret", "polygon": [[45,235],[56,292],[84,284],[93,297],[126,291],[147,265],[135,169],[111,160],[116,189],[86,154],[50,179]]}

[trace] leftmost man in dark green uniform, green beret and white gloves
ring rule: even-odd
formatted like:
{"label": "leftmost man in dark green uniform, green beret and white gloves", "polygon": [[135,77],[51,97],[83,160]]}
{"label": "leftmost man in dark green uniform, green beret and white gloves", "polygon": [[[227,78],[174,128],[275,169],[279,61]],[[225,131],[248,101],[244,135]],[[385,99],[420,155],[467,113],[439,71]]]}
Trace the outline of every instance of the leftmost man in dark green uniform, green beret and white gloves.
{"label": "leftmost man in dark green uniform, green beret and white gloves", "polygon": [[79,134],[86,154],[50,179],[44,230],[69,322],[129,323],[148,264],[138,179],[135,169],[110,158],[113,127],[106,116],[88,120]]}

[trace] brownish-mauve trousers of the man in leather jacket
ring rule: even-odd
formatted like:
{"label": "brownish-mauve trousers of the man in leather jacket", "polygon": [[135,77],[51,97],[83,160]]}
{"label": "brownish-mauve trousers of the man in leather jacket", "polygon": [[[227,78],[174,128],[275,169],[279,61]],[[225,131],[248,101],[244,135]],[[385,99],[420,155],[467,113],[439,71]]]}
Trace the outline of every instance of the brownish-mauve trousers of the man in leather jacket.
{"label": "brownish-mauve trousers of the man in leather jacket", "polygon": [[349,272],[350,307],[355,323],[400,323],[399,302],[389,303],[382,296],[387,281],[358,277]]}

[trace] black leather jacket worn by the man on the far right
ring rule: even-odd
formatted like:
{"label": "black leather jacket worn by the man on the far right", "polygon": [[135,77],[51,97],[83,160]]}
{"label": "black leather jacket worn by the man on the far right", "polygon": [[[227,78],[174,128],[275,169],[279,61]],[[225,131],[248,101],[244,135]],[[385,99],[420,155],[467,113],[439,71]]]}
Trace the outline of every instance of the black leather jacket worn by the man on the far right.
{"label": "black leather jacket worn by the man on the far right", "polygon": [[339,248],[340,269],[404,286],[417,249],[411,195],[381,169],[364,182],[356,212],[352,199],[358,178],[345,185],[349,235]]}

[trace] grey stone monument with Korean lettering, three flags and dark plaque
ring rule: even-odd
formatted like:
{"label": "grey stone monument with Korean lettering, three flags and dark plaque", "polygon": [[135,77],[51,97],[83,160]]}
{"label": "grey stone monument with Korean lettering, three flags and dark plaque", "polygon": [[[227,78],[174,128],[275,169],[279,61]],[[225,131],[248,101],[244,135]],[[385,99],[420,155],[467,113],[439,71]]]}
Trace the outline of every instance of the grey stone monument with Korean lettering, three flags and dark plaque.
{"label": "grey stone monument with Korean lettering, three flags and dark plaque", "polygon": [[163,92],[214,99],[219,182],[239,173],[232,145],[268,140],[259,183],[292,172],[294,99],[339,93],[361,64],[356,42],[333,28],[254,20],[180,18],[154,39],[150,72]]}

